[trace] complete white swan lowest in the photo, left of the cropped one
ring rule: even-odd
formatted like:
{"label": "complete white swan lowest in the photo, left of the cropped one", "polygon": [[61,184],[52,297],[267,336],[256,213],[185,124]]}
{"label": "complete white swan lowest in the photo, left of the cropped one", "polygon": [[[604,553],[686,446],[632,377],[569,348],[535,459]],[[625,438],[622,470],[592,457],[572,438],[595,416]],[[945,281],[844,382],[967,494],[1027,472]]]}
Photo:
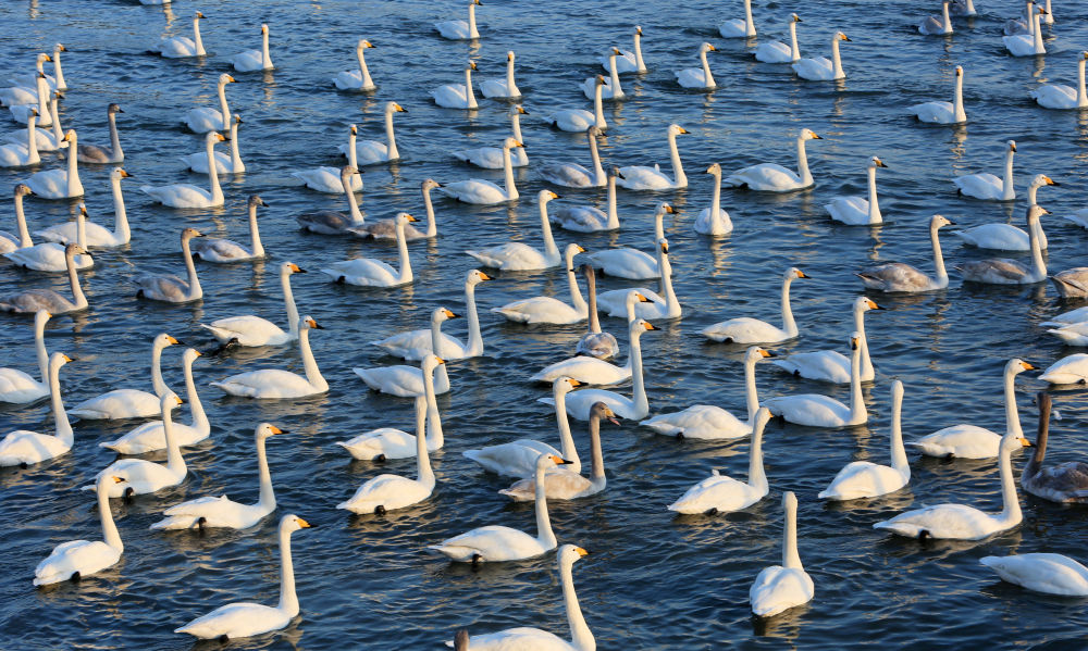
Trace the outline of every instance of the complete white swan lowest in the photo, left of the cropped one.
{"label": "complete white swan lowest in the photo, left of the cropped one", "polygon": [[174,629],[174,633],[187,633],[206,640],[230,640],[280,630],[290,624],[298,615],[295,567],[290,562],[290,535],[311,526],[294,514],[284,515],[280,519],[280,603],[274,608],[248,602],[228,603]]}

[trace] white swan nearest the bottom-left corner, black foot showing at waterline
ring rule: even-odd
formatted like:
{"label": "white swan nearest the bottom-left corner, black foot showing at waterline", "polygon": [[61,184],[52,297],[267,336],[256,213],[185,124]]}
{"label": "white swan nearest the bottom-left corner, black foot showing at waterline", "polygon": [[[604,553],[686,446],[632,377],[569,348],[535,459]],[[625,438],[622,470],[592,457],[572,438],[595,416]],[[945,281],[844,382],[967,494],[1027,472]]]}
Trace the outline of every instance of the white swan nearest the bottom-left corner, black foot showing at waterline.
{"label": "white swan nearest the bottom-left corner, black foot showing at waterline", "polygon": [[48,556],[34,568],[34,585],[48,586],[66,580],[79,580],[112,567],[121,560],[125,546],[118,533],[110,510],[110,485],[123,484],[121,477],[103,476],[98,479],[98,517],[102,522],[103,540],[70,540],[53,548]]}

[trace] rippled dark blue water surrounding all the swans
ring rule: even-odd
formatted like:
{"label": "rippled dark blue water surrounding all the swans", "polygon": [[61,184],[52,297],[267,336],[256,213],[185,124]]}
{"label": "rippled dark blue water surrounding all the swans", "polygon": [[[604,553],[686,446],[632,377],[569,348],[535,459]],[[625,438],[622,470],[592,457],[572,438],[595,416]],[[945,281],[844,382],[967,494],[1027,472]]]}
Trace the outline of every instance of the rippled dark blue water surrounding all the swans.
{"label": "rippled dark blue water surrounding all the swans", "polygon": [[[607,46],[630,48],[632,25],[645,32],[644,51],[652,71],[625,77],[630,99],[606,107],[611,125],[602,142],[607,163],[667,164],[665,126],[677,122],[692,135],[680,138],[691,187],[662,196],[620,191],[622,230],[574,236],[557,231],[560,245],[579,241],[589,250],[623,245],[650,249],[654,205],[667,199],[678,214],[666,221],[684,306],[680,322],[658,322],[659,331],[643,337],[652,410],[675,411],[694,403],[744,409],[743,351],[707,345],[706,325],[730,316],[778,320],[781,273],[796,265],[813,276],[793,286],[801,339],[777,347],[779,353],[833,348],[846,350],[850,305],[861,285],[853,273],[873,261],[903,260],[928,271],[926,224],[935,212],[964,225],[1023,223],[1024,203],[1015,206],[961,199],[953,174],[999,172],[1003,142],[1015,138],[1017,191],[1026,179],[1046,173],[1062,184],[1040,191],[1040,203],[1055,215],[1081,206],[1088,146],[1088,116],[1043,111],[1027,91],[1044,80],[1070,84],[1075,59],[1088,43],[1084,7],[1059,3],[1058,24],[1047,32],[1046,60],[1005,54],[1000,29],[1016,14],[1016,2],[979,3],[981,15],[957,18],[949,39],[920,37],[914,27],[924,13],[916,3],[817,2],[799,25],[803,54],[828,54],[836,29],[852,42],[842,55],[844,84],[804,83],[786,66],[754,63],[740,40],[718,38],[716,25],[741,14],[737,7],[689,2],[632,7],[621,2],[584,5],[565,0],[547,5],[489,2],[479,11],[486,36],[478,46],[441,40],[431,24],[462,17],[460,2],[355,3],[341,0],[260,3],[177,2],[171,10],[131,2],[52,0],[0,5],[2,67],[25,72],[38,51],[65,43],[65,75],[72,89],[62,108],[65,126],[78,126],[81,141],[107,141],[104,108],[120,103],[125,147],[125,181],[133,242],[121,250],[96,251],[97,266],[83,279],[91,310],[57,317],[47,331],[51,351],[78,362],[62,371],[69,405],[115,387],[148,387],[151,338],[169,331],[189,345],[211,348],[197,324],[221,316],[257,313],[284,321],[277,265],[292,260],[317,271],[356,255],[395,260],[395,249],[349,239],[302,235],[294,216],[306,210],[343,210],[342,198],[296,187],[294,170],[339,165],[335,147],[346,125],[357,123],[361,138],[382,137],[381,110],[395,100],[408,109],[397,116],[404,161],[366,170],[363,210],[368,218],[400,210],[422,214],[419,183],[433,177],[500,179],[500,173],[471,168],[449,152],[463,146],[497,143],[508,133],[507,105],[482,100],[472,114],[436,108],[431,88],[462,80],[467,58],[477,60],[475,79],[500,78],[505,52],[518,54],[518,85],[532,113],[523,120],[533,163],[588,162],[580,136],[558,133],[536,121],[552,110],[586,107],[577,84],[599,71],[596,57]],[[201,10],[210,55],[205,61],[163,61],[144,54],[163,35],[188,34],[191,12]],[[755,8],[764,34],[781,38],[792,8]],[[932,8],[931,8],[932,9]],[[576,17],[570,17],[576,16]],[[138,187],[176,181],[206,183],[188,176],[176,157],[200,151],[202,140],[183,130],[178,117],[191,107],[214,103],[215,80],[230,68],[227,57],[259,46],[259,25],[271,26],[270,74],[238,73],[227,87],[233,110],[244,115],[242,152],[249,172],[224,179],[226,206],[213,211],[173,211],[152,205]],[[330,79],[354,66],[357,38],[368,38],[368,63],[379,90],[343,93]],[[695,65],[698,43],[719,47],[710,53],[720,88],[713,93],[678,89],[672,70]],[[960,129],[917,125],[908,104],[950,99],[952,70],[966,70],[965,99],[970,123]],[[726,190],[724,206],[735,230],[709,240],[692,223],[707,205],[713,162],[726,171],[761,161],[793,165],[793,136],[809,127],[824,140],[809,142],[817,180],[812,191],[783,197]],[[14,125],[5,128],[15,129]],[[821,205],[841,193],[862,193],[864,166],[880,155],[881,208],[888,224],[879,229],[833,226]],[[44,168],[59,165],[45,154]],[[81,176],[92,218],[112,221],[108,167],[86,166]],[[10,188],[26,173],[0,172]],[[442,237],[410,246],[416,283],[395,290],[363,290],[327,283],[321,274],[296,275],[296,297],[327,329],[312,345],[331,390],[308,400],[255,403],[222,398],[208,381],[258,367],[300,371],[297,351],[258,349],[225,358],[202,358],[197,381],[213,423],[210,441],[186,451],[191,476],[176,490],[118,504],[126,550],[122,562],[79,586],[35,590],[35,564],[58,542],[100,537],[94,499],[77,490],[112,454],[97,447],[131,426],[78,424],[72,453],[26,471],[0,473],[3,509],[0,543],[7,571],[0,579],[4,647],[34,648],[188,648],[172,633],[190,618],[231,601],[274,603],[277,563],[274,518],[256,530],[220,531],[198,539],[188,534],[151,533],[158,513],[182,499],[227,492],[256,500],[252,429],[270,421],[292,430],[269,443],[269,458],[281,513],[294,512],[318,527],[294,537],[295,567],[302,614],[287,630],[236,648],[438,648],[456,627],[473,633],[504,627],[540,626],[567,635],[552,555],[479,572],[423,553],[429,543],[485,524],[533,530],[531,505],[514,506],[496,490],[508,483],[480,472],[460,452],[527,436],[555,438],[549,408],[539,404],[542,387],[524,377],[573,350],[582,326],[529,328],[507,324],[486,310],[514,298],[541,293],[566,296],[561,272],[497,274],[478,291],[483,336],[482,358],[450,364],[454,391],[440,398],[447,447],[434,454],[438,477],[434,497],[418,509],[386,517],[353,517],[335,504],[363,480],[381,472],[415,473],[410,460],[383,467],[353,462],[333,441],[378,426],[412,426],[411,402],[372,393],[353,366],[395,363],[367,346],[406,328],[424,327],[442,304],[462,311],[461,283],[470,246],[509,238],[539,242],[535,192],[543,186],[532,171],[518,171],[522,199],[517,205],[478,208],[436,201]],[[558,188],[562,201],[603,201],[603,192]],[[259,192],[271,204],[261,226],[267,263],[201,264],[206,298],[185,306],[133,298],[131,278],[144,272],[182,271],[177,233],[196,226],[209,235],[246,241],[246,197]],[[71,218],[67,202],[29,199],[32,229]],[[10,211],[5,214],[10,215]],[[10,228],[11,217],[4,217]],[[1049,263],[1055,271],[1084,263],[1084,233],[1048,217]],[[961,248],[945,234],[951,264],[984,256]],[[922,459],[912,452],[911,487],[871,503],[827,506],[816,493],[846,462],[886,463],[889,389],[893,378],[906,385],[904,431],[907,440],[959,422],[1001,430],[1001,368],[1021,356],[1048,365],[1065,349],[1038,323],[1075,306],[1055,298],[1049,285],[1026,289],[962,287],[953,272],[950,289],[911,298],[875,296],[888,311],[867,317],[877,381],[865,388],[867,426],[813,430],[772,425],[765,454],[771,494],[743,513],[713,518],[675,518],[665,510],[710,468],[744,476],[747,441],[680,443],[633,423],[604,427],[608,488],[572,504],[552,503],[560,541],[593,553],[574,567],[574,583],[599,648],[710,649],[733,644],[774,648],[838,649],[858,636],[888,647],[912,642],[974,648],[1051,644],[1084,646],[1088,623],[1081,600],[1053,599],[996,580],[978,564],[987,554],[1054,551],[1081,556],[1084,514],[1023,498],[1025,522],[1015,530],[968,544],[913,541],[874,531],[871,523],[912,505],[954,501],[1000,509],[996,463]],[[0,293],[29,286],[57,286],[61,276],[0,271]],[[626,286],[605,278],[603,289]],[[449,331],[462,336],[463,323]],[[620,333],[617,320],[606,328]],[[2,320],[5,363],[35,367],[29,320]],[[623,337],[620,337],[623,340]],[[626,343],[625,343],[626,346]],[[181,351],[168,349],[168,383],[181,388]],[[1017,379],[1026,428],[1034,429],[1031,395],[1043,388],[1034,374]],[[763,396],[821,391],[846,400],[846,387],[794,380],[769,364],[758,367]],[[628,391],[629,388],[621,390]],[[1088,403],[1084,392],[1055,391],[1064,418],[1053,427],[1049,459],[1078,456],[1086,442]],[[183,409],[183,414],[184,414]],[[187,421],[187,415],[182,416]],[[3,430],[51,428],[46,402],[4,408]],[[584,438],[583,425],[574,425]],[[582,441],[584,443],[584,441]],[[583,445],[583,455],[586,450]],[[157,456],[152,456],[157,459]],[[1014,458],[1018,467],[1023,454]],[[780,559],[780,494],[800,499],[800,551],[816,583],[816,598],[803,609],[769,623],[751,618],[747,589],[759,568]],[[349,640],[349,641],[348,641]]]}

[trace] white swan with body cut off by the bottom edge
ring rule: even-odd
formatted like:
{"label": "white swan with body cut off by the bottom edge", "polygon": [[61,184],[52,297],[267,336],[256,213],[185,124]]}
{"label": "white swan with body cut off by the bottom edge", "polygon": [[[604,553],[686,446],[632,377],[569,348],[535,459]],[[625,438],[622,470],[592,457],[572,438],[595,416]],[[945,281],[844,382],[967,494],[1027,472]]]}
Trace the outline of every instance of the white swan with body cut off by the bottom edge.
{"label": "white swan with body cut off by the bottom edge", "polygon": [[[585,625],[582,617],[582,609],[578,605],[578,597],[574,594],[574,581],[571,578],[571,567],[574,561],[589,554],[580,547],[564,544],[556,554],[559,565],[559,581],[562,585],[562,600],[567,610],[567,623],[570,625],[571,641],[567,641],[556,635],[539,628],[517,627],[507,628],[497,633],[478,635],[471,640],[472,651],[505,651],[507,649],[541,649],[548,651],[594,651],[596,640],[593,633]],[[458,631],[458,643],[460,648],[470,649],[468,631]],[[447,646],[454,646],[447,642]]]}

